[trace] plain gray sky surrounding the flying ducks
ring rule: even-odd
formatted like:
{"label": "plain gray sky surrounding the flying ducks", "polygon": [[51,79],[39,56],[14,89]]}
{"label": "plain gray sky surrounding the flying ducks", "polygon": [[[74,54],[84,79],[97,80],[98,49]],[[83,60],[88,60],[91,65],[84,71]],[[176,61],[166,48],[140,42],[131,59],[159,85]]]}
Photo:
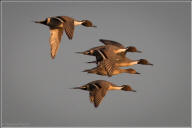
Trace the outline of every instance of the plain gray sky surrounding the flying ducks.
{"label": "plain gray sky surrounding the flying ducks", "polygon": [[[49,16],[88,19],[97,29],[78,26],[64,34],[55,60]],[[190,3],[3,3],[3,121],[7,126],[188,126],[190,124]],[[111,78],[86,74],[94,57],[75,54],[102,45],[100,38],[143,53],[151,66],[133,66],[142,75]],[[93,80],[130,84],[136,93],[108,92],[95,109],[88,92],[71,90]]]}

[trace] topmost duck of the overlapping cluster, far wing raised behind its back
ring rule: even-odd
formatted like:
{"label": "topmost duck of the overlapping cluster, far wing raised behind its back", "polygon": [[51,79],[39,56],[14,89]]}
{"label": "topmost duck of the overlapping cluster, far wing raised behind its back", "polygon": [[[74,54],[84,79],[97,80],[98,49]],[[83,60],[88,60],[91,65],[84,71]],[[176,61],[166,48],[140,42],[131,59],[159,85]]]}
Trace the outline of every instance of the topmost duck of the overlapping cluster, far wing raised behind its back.
{"label": "topmost duck of the overlapping cluster, far wing raised behind its back", "polygon": [[84,52],[77,52],[77,53],[94,56],[94,52],[96,50],[100,50],[100,49],[103,49],[103,48],[105,50],[108,50],[110,48],[110,53],[113,52],[115,54],[119,54],[119,55],[123,55],[123,56],[125,56],[127,52],[141,53],[141,51],[139,51],[135,46],[125,47],[122,44],[120,44],[118,42],[115,42],[115,41],[112,41],[112,40],[100,39],[99,41],[102,42],[105,45],[94,47],[94,48],[91,48],[91,49],[86,50]]}

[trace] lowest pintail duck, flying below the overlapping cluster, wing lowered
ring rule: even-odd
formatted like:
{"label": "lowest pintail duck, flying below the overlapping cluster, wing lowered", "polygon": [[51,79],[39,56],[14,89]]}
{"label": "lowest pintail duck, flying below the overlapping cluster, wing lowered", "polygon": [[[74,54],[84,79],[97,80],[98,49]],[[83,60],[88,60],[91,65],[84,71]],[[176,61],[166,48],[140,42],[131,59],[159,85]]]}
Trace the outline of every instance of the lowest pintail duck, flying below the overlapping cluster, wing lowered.
{"label": "lowest pintail duck, flying below the overlapping cluster, wing lowered", "polygon": [[117,86],[105,80],[92,81],[90,83],[87,83],[86,85],[80,87],[74,87],[73,89],[81,89],[89,91],[90,102],[93,103],[95,107],[99,106],[108,90],[123,90],[123,91],[136,92],[131,88],[130,85]]}

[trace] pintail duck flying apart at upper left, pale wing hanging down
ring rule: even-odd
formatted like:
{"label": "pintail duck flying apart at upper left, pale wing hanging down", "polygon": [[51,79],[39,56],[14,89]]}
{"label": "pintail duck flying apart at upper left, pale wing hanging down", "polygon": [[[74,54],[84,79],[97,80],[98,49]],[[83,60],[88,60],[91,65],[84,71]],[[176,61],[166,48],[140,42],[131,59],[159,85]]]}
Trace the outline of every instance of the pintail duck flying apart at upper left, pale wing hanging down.
{"label": "pintail duck flying apart at upper left, pale wing hanging down", "polygon": [[49,26],[49,42],[51,46],[52,59],[54,59],[57,54],[59,44],[61,42],[61,37],[63,35],[63,30],[65,30],[65,33],[68,36],[69,40],[72,40],[75,26],[83,25],[85,27],[96,27],[89,20],[78,21],[68,16],[48,17],[43,21],[35,21],[35,23],[40,23]]}

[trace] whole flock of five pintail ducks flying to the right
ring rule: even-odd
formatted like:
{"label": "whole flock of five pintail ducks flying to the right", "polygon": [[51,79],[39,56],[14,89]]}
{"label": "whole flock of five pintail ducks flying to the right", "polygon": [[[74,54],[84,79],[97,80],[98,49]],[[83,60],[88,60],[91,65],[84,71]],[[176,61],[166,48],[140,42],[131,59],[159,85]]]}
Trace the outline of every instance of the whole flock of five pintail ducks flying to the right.
{"label": "whole flock of five pintail ducks flying to the right", "polygon": [[[50,29],[49,42],[51,47],[52,59],[55,58],[58,52],[63,31],[65,31],[69,40],[71,40],[73,38],[75,26],[83,25],[85,27],[96,27],[89,20],[78,21],[68,16],[48,17],[43,21],[35,21],[35,23],[44,24]],[[139,51],[134,46],[125,47],[122,44],[112,40],[100,39],[99,41],[102,42],[104,45],[91,48],[84,52],[77,52],[79,54],[96,57],[95,61],[91,61],[88,63],[96,63],[97,66],[92,69],[84,70],[84,72],[111,77],[120,73],[140,74],[135,71],[135,69],[123,69],[121,67],[128,67],[135,64],[153,65],[149,63],[146,59],[131,60],[127,58],[127,52],[141,53],[141,51]],[[86,85],[74,87],[73,89],[89,91],[90,102],[93,103],[95,107],[99,106],[108,90],[124,90],[135,92],[135,90],[132,89],[130,85],[117,86],[105,80],[92,81],[87,83]]]}

